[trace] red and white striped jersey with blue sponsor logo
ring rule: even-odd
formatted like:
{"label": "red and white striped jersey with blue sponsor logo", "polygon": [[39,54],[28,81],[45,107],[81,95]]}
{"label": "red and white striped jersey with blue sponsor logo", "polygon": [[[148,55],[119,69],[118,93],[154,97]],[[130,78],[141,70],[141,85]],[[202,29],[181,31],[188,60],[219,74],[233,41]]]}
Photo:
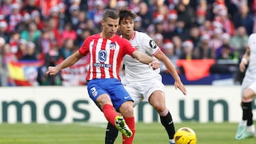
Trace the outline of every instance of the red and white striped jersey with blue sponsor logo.
{"label": "red and white striped jersey with blue sponsor logo", "polygon": [[136,48],[128,40],[114,35],[113,38],[101,38],[100,33],[90,35],[79,48],[81,55],[90,54],[90,68],[87,81],[90,79],[117,78],[124,55],[132,55]]}

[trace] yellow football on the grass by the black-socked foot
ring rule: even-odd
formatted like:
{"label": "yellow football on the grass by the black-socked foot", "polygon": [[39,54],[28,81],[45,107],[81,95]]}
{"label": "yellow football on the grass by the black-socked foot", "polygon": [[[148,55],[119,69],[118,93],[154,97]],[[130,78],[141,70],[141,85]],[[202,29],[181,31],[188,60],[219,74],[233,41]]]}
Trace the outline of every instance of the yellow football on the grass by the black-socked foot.
{"label": "yellow football on the grass by the black-socked foot", "polygon": [[191,128],[179,128],[174,134],[176,144],[196,144],[196,133]]}

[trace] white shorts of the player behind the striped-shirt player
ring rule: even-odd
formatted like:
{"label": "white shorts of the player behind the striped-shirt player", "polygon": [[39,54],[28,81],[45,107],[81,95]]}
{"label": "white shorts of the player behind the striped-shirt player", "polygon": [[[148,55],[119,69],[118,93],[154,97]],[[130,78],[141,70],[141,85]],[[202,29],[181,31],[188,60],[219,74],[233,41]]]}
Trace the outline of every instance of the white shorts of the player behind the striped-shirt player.
{"label": "white shorts of the player behind the striped-shirt player", "polygon": [[144,82],[128,82],[124,88],[134,99],[134,106],[137,106],[140,101],[149,101],[149,96],[156,90],[164,92],[164,84],[161,81],[160,74]]}

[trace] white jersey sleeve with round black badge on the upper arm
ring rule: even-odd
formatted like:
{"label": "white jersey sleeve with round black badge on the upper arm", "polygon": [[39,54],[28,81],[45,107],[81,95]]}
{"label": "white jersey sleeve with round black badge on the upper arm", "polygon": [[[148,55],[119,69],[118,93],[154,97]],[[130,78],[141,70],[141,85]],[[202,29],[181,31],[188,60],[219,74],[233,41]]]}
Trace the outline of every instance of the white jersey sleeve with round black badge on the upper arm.
{"label": "white jersey sleeve with round black badge on the upper arm", "polygon": [[156,55],[160,51],[156,42],[146,34],[142,36],[142,48],[144,48],[145,52],[150,55]]}

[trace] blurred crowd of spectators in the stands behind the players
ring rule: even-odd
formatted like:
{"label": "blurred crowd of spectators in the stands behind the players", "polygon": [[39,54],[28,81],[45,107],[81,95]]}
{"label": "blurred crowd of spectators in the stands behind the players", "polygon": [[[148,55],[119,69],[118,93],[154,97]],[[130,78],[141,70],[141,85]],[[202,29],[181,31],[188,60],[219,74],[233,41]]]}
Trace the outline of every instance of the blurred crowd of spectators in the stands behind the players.
{"label": "blurred crowd of spectators in the stands behind the players", "polygon": [[[238,62],[248,35],[256,31],[256,1],[252,0],[1,0],[0,3],[2,86],[7,85],[6,64],[20,60],[43,60],[45,67],[38,72],[39,84],[61,84],[46,82],[43,74],[46,67],[58,64],[78,50],[88,35],[100,32],[105,9],[118,11],[122,6],[132,9],[137,13],[134,29],[149,34],[174,64],[176,60],[194,59]],[[164,67],[161,72],[166,72]]]}

